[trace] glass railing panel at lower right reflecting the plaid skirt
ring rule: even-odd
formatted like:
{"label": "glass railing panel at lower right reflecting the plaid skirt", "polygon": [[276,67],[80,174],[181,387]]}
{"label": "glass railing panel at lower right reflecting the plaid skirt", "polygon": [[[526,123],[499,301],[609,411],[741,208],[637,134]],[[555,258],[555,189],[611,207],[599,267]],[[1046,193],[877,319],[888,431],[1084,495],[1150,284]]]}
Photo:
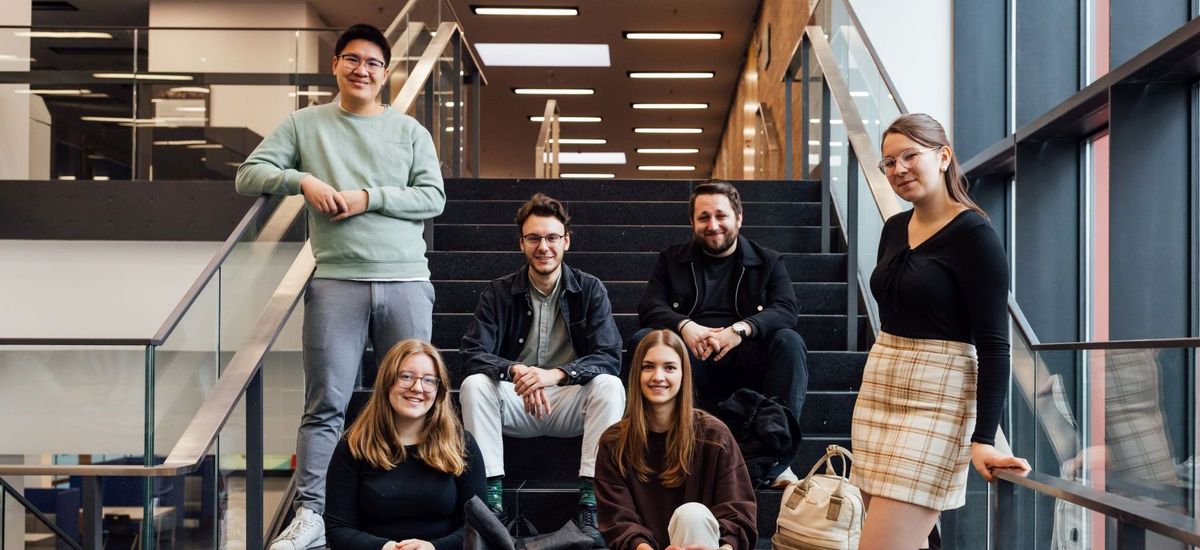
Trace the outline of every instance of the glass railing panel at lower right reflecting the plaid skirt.
{"label": "glass railing panel at lower right reflecting the plaid skirt", "polygon": [[[1042,351],[1036,467],[1048,474],[1195,516],[1195,348]],[[1043,513],[1045,515],[1045,513]],[[1040,518],[1039,518],[1040,519]],[[1058,503],[1060,533],[1103,545],[1103,516]],[[1111,542],[1110,542],[1111,543]]]}

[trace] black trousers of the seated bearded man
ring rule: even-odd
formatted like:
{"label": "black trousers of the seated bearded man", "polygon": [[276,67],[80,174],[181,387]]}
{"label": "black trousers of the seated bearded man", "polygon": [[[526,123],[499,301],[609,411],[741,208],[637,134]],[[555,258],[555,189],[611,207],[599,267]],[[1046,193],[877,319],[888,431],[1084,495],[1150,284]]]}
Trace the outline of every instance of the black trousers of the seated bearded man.
{"label": "black trousers of the seated bearded man", "polygon": [[[626,384],[637,383],[629,378],[629,361],[638,342],[652,330],[638,330],[625,347],[620,378]],[[776,330],[764,340],[743,340],[719,361],[712,358],[698,360],[689,352],[696,406],[715,413],[716,403],[740,388],[750,388],[767,396],[780,397],[799,419],[804,396],[809,391],[808,353],[804,339],[791,329]]]}

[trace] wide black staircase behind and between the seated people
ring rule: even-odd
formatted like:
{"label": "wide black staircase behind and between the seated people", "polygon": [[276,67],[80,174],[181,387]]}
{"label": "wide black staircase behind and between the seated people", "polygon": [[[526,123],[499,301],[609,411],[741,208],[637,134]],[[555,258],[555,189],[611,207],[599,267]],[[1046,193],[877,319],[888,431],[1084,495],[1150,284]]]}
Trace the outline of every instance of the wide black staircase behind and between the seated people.
{"label": "wide black staircase behind and between the seated people", "polygon": [[[437,301],[433,343],[442,349],[457,388],[458,340],[470,322],[484,282],[524,264],[512,222],[517,207],[535,192],[566,203],[572,219],[570,265],[590,273],[608,289],[622,337],[637,330],[637,303],[660,250],[691,238],[685,180],[446,180],[445,213],[434,220],[428,252]],[[850,446],[850,419],[862,379],[869,336],[846,351],[846,253],[820,253],[820,184],[736,181],[742,193],[742,234],[784,255],[799,300],[797,330],[809,347],[809,394],[800,413],[805,441],[793,464],[798,476],[826,446]],[[839,229],[832,243],[844,250]],[[865,316],[859,335],[870,334]],[[373,359],[350,416],[373,382]],[[556,530],[575,514],[578,462],[544,458],[578,455],[580,438],[505,441],[505,509],[524,514],[539,530]],[[758,495],[758,546],[769,546],[779,491]]]}

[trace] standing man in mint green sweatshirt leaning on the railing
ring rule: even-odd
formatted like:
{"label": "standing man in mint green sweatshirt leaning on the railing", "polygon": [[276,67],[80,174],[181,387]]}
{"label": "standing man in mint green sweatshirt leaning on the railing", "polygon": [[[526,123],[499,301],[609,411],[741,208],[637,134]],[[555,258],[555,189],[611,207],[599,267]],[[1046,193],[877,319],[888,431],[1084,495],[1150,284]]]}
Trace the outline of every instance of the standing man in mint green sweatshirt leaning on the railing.
{"label": "standing man in mint green sweatshirt leaning on the railing", "polygon": [[400,340],[430,340],[425,220],[445,190],[433,139],[378,101],[391,48],[354,25],[332,59],[340,95],[288,115],[238,169],[246,195],[304,193],[317,273],[305,295],[305,412],[296,442],[296,518],[271,550],[325,545],[325,471],[370,339],[376,358]]}

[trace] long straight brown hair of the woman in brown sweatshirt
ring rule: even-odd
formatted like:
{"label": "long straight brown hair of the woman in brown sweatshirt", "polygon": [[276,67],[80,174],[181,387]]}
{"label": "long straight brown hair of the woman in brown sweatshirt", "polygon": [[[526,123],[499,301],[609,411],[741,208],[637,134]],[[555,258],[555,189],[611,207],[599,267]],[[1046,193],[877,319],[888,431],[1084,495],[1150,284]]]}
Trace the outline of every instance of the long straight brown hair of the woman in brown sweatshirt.
{"label": "long straight brown hair of the woman in brown sweatshirt", "polygon": [[[608,432],[608,443],[622,477],[632,470],[637,479],[648,483],[654,473],[646,465],[647,432],[649,431],[649,407],[642,396],[642,360],[654,346],[667,346],[679,355],[679,367],[683,377],[679,381],[679,393],[674,397],[674,424],[667,431],[667,453],[662,461],[659,482],[662,486],[676,488],[683,484],[696,452],[696,411],[692,406],[691,363],[688,360],[688,348],[683,340],[671,330],[661,329],[647,334],[634,351],[629,363],[629,394],[625,399],[625,417],[617,423],[617,430]],[[613,435],[614,434],[614,435]]]}

